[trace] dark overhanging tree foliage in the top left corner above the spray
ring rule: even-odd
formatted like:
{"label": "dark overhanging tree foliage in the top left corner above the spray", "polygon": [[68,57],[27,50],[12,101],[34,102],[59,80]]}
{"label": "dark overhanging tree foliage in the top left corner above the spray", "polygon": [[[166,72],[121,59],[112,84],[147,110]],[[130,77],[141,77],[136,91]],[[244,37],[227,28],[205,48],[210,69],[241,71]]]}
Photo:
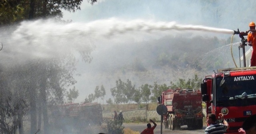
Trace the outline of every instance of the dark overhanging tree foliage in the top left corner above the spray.
{"label": "dark overhanging tree foliage in the top left corner above the spray", "polygon": [[[0,25],[14,24],[22,20],[38,18],[61,19],[61,10],[76,12],[83,0],[2,0],[0,2]],[[97,0],[87,0],[94,4]]]}

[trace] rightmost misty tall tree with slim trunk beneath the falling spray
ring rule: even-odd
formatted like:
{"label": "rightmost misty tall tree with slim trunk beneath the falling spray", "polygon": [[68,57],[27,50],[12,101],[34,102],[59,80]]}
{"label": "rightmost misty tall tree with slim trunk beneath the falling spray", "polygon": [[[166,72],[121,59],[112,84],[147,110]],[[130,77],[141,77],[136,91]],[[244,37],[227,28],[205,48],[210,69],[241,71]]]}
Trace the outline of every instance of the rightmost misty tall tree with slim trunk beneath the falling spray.
{"label": "rightmost misty tall tree with slim trunk beneath the falling spray", "polygon": [[[75,62],[74,56],[68,54],[63,55],[62,59],[55,58],[50,61],[38,61],[38,65],[40,65],[40,68],[37,69],[37,71],[40,70],[38,77],[41,78],[38,79],[38,82],[40,82],[45,134],[50,134],[48,107],[63,104],[65,87],[70,87],[76,83],[73,77],[76,72]],[[38,120],[38,122],[40,121]]]}

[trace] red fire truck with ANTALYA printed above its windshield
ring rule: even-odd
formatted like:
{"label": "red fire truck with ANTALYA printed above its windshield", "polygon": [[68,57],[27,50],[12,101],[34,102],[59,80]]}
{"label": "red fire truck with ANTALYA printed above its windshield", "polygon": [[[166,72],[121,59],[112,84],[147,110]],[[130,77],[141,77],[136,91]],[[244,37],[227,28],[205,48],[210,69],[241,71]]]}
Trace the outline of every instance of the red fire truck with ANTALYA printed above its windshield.
{"label": "red fire truck with ANTALYA printed above its windshield", "polygon": [[226,133],[238,134],[244,120],[256,114],[256,67],[218,69],[201,84],[206,113],[224,114],[230,125]]}

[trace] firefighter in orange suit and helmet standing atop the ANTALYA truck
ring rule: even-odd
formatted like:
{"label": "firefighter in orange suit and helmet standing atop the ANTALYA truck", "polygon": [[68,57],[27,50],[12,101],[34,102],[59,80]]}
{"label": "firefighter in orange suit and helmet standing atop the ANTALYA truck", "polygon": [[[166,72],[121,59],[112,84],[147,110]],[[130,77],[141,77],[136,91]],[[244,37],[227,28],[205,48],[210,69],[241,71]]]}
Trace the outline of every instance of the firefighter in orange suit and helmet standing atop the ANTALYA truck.
{"label": "firefighter in orange suit and helmet standing atop the ANTALYA truck", "polygon": [[247,35],[247,44],[252,46],[251,67],[256,66],[256,30],[255,30],[255,26],[256,25],[254,22],[250,22],[250,24],[249,24],[250,30],[248,30],[246,32],[239,33],[239,36],[241,38],[243,38],[242,36]]}

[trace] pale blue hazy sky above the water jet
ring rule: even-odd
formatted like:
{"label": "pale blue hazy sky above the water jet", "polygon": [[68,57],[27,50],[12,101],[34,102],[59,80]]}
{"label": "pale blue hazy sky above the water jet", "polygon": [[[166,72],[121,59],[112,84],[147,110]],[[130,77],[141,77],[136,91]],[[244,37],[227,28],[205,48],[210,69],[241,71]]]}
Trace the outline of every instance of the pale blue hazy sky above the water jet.
{"label": "pale blue hazy sky above the water jet", "polygon": [[[213,2],[214,1],[214,2]],[[212,4],[210,4],[212,3]],[[180,24],[204,25],[236,30],[244,29],[252,18],[253,0],[99,0],[82,2],[81,10],[64,12],[64,20],[90,22],[107,18],[145,19]],[[250,12],[251,11],[251,12]]]}

